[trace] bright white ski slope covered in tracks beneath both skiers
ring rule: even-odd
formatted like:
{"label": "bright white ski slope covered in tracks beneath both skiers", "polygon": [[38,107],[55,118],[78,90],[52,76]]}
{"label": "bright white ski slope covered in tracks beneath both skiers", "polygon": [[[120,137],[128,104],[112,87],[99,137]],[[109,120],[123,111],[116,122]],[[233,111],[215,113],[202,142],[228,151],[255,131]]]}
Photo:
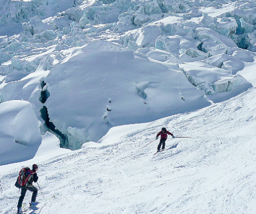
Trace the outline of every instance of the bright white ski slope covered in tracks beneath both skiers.
{"label": "bright white ski slope covered in tracks beneath both skiers", "polygon": [[[42,192],[55,200],[31,213],[255,213],[254,94],[255,88],[249,89],[228,101],[151,122],[114,145],[38,163]],[[162,126],[193,138],[169,137],[166,149],[178,146],[153,156],[158,140],[141,147]],[[0,213],[13,213],[17,206],[18,170],[1,177]],[[30,198],[28,191],[24,202]],[[44,203],[40,191],[37,200]]]}

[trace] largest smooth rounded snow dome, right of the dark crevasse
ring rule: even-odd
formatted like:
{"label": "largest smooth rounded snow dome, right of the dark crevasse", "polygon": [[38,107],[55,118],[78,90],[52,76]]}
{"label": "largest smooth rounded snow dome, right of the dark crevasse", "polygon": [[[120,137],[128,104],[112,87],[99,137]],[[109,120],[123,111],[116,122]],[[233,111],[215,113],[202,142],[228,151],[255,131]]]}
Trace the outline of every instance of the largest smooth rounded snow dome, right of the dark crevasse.
{"label": "largest smooth rounded snow dome, right of the dark crevasse", "polygon": [[71,149],[98,141],[112,126],[149,122],[209,104],[175,65],[150,62],[106,41],[76,48],[51,69],[45,82],[51,94],[45,103],[50,121]]}

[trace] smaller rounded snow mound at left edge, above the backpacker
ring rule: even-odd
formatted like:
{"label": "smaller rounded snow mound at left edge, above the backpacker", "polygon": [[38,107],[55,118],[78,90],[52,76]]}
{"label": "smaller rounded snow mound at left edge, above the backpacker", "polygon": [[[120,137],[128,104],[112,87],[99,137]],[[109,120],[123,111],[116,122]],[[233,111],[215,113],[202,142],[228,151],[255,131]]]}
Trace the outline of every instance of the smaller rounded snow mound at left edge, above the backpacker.
{"label": "smaller rounded snow mound at left edge, above the backpacker", "polygon": [[39,121],[27,101],[0,103],[0,165],[35,156],[42,137]]}

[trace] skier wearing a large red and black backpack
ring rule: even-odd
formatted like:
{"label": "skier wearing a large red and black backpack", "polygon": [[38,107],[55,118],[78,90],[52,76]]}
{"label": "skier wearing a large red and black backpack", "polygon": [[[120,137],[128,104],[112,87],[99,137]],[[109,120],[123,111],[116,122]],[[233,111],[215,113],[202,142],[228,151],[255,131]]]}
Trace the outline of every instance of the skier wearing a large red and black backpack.
{"label": "skier wearing a large red and black backpack", "polygon": [[[26,167],[28,168],[28,167]],[[38,167],[36,164],[33,164],[32,171],[28,170],[25,172],[24,177],[22,178],[23,181],[19,183],[21,186],[21,196],[19,196],[18,201],[18,211],[17,213],[22,213],[21,206],[24,199],[24,196],[26,195],[27,190],[33,192],[32,198],[31,198],[31,206],[37,205],[39,202],[36,201],[37,196],[37,188],[32,185],[33,182],[37,182],[38,176],[36,171],[38,170]]]}

